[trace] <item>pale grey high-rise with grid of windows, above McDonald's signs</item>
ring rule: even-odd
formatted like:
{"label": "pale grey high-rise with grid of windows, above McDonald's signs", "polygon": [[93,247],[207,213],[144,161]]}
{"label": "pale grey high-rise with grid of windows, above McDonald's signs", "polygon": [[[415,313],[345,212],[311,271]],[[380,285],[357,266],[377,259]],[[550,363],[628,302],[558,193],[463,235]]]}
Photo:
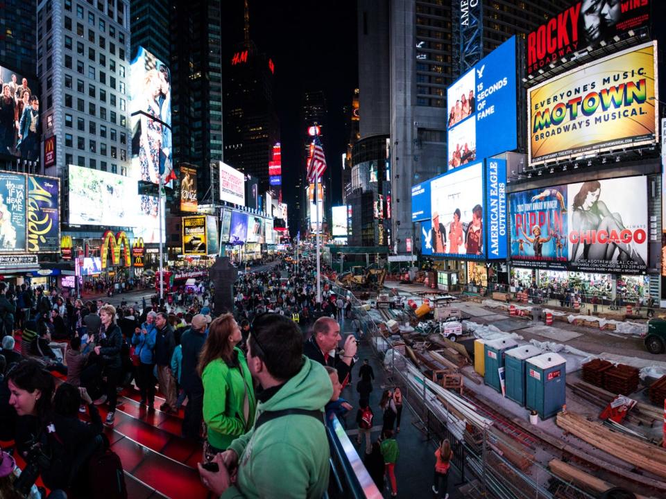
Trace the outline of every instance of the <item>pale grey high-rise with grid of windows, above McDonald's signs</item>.
{"label": "pale grey high-rise with grid of windows, above McDonald's signs", "polygon": [[56,137],[56,160],[45,173],[62,177],[62,191],[69,164],[127,175],[129,13],[126,0],[37,6],[42,133]]}

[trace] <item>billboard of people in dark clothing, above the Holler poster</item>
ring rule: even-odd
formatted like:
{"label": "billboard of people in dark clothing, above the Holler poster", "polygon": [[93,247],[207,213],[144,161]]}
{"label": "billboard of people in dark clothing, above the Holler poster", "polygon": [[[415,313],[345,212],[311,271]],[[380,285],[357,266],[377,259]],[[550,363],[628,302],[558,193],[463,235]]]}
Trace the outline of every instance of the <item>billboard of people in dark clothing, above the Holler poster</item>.
{"label": "billboard of people in dark clothing, above the Holler poster", "polygon": [[39,80],[0,66],[0,83],[0,155],[39,160]]}

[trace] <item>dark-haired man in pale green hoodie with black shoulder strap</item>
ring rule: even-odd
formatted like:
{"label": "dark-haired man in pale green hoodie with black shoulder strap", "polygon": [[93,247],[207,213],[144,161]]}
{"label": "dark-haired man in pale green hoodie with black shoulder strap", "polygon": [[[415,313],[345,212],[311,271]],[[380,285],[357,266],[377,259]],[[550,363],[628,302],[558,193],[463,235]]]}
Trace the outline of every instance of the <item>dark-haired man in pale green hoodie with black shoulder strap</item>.
{"label": "dark-haired man in pale green hoodie with black shoulder strap", "polygon": [[203,484],[221,498],[321,499],[327,490],[323,407],[332,385],[324,367],[302,355],[302,344],[287,317],[264,314],[253,322],[248,367],[263,388],[255,424],[216,455],[218,472],[198,465]]}

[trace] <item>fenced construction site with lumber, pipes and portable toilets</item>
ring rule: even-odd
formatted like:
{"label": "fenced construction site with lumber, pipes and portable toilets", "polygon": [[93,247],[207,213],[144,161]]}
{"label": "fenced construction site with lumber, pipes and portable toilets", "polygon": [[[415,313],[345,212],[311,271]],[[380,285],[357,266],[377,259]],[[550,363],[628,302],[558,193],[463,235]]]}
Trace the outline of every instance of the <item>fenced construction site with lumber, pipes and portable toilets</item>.
{"label": "fenced construction site with lumber, pipes and portable toilets", "polygon": [[666,497],[666,362],[631,310],[592,315],[395,281],[334,289],[355,302],[422,432],[454,443],[466,496],[592,499],[620,487]]}

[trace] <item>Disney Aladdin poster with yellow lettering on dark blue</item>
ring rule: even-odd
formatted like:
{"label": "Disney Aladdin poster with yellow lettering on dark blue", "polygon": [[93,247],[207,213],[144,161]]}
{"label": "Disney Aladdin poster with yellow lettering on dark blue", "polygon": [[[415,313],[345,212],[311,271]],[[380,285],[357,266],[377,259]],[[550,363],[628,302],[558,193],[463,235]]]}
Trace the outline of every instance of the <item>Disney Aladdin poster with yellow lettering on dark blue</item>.
{"label": "Disney Aladdin poster with yellow lettering on dark blue", "polygon": [[60,250],[60,179],[28,175],[28,251]]}

